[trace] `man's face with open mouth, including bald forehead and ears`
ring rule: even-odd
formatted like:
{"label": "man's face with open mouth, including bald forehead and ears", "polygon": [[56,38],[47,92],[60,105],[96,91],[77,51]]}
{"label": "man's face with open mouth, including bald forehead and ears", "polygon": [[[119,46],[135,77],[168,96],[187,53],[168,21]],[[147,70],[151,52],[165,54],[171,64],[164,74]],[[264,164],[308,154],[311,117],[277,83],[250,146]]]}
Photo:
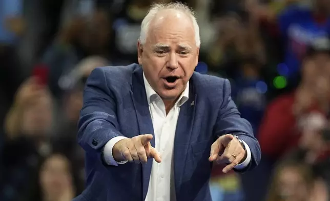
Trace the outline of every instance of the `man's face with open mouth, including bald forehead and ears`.
{"label": "man's face with open mouth, including bald forehead and ears", "polygon": [[138,62],[149,84],[167,100],[175,100],[185,89],[198,54],[193,23],[180,11],[158,13],[150,22],[146,43],[138,43]]}

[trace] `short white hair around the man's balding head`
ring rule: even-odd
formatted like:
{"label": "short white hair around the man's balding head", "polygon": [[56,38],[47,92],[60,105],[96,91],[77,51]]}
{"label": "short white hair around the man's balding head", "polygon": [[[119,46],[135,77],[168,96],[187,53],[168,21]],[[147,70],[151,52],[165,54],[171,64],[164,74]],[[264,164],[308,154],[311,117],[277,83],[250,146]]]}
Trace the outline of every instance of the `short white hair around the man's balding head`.
{"label": "short white hair around the man's balding head", "polygon": [[156,16],[156,14],[162,10],[178,10],[178,11],[181,11],[181,12],[187,14],[188,16],[190,16],[190,18],[193,22],[194,30],[195,30],[196,46],[197,47],[200,46],[199,27],[198,27],[197,20],[195,17],[195,12],[192,9],[190,9],[187,5],[184,5],[184,4],[178,3],[178,2],[168,3],[168,4],[153,4],[151,6],[150,10],[148,11],[145,18],[143,18],[143,21],[141,23],[141,31],[140,31],[140,37],[139,37],[139,41],[141,44],[146,43],[146,38],[147,38],[148,31],[149,31],[150,22]]}

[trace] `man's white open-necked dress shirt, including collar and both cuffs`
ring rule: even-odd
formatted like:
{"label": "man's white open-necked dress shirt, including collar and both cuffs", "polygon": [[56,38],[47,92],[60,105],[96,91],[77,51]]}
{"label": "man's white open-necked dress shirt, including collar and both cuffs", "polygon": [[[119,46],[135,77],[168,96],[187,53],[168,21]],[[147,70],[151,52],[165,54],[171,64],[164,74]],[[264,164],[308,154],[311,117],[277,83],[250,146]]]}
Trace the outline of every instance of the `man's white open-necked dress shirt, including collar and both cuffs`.
{"label": "man's white open-necked dress shirt, including collar and both cuffs", "polygon": [[[153,160],[146,201],[175,201],[176,198],[173,176],[174,136],[180,107],[189,98],[189,82],[187,83],[187,87],[178,98],[174,107],[169,111],[168,114],[166,114],[162,99],[152,89],[145,77],[145,74],[143,74],[143,79],[145,82],[149,110],[154,128],[155,149],[160,153],[161,156],[161,163],[157,163],[155,160]],[[107,164],[118,166],[118,164],[126,163],[117,163],[112,156],[113,146],[123,138],[126,137],[114,137],[105,145],[104,159]],[[245,168],[249,165],[251,160],[250,148],[245,142],[243,143],[246,148],[247,157],[244,162],[237,165],[235,169]]]}

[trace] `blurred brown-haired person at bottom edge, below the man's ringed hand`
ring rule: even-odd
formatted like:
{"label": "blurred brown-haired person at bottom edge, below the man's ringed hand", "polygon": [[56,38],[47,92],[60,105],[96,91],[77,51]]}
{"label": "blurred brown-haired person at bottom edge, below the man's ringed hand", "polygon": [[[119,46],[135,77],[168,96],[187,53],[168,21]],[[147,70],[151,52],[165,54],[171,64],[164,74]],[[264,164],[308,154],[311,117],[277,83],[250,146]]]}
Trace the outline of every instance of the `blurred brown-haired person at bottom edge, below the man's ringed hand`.
{"label": "blurred brown-haired person at bottom edge, below the man's ringed hand", "polygon": [[310,166],[296,159],[286,159],[274,171],[266,201],[312,201],[313,183]]}

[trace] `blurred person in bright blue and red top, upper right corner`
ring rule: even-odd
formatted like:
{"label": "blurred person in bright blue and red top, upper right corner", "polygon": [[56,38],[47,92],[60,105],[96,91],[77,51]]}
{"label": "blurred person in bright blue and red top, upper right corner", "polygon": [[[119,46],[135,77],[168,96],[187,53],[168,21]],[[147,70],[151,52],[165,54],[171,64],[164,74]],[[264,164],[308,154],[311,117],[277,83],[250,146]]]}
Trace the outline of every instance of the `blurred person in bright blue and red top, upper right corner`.
{"label": "blurred person in bright blue and red top, upper right corner", "polygon": [[252,15],[257,15],[265,21],[266,25],[269,23],[274,25],[272,19],[275,18],[275,26],[271,26],[270,32],[273,36],[280,37],[281,45],[284,48],[281,50],[284,54],[280,59],[288,71],[285,76],[290,79],[291,83],[296,83],[301,62],[308,47],[317,39],[327,38],[330,33],[330,2],[313,0],[311,7],[291,1],[286,4],[289,6],[279,12],[276,17],[269,16],[273,15],[273,12],[264,9],[257,3],[251,4],[254,6],[250,5],[248,9]]}

